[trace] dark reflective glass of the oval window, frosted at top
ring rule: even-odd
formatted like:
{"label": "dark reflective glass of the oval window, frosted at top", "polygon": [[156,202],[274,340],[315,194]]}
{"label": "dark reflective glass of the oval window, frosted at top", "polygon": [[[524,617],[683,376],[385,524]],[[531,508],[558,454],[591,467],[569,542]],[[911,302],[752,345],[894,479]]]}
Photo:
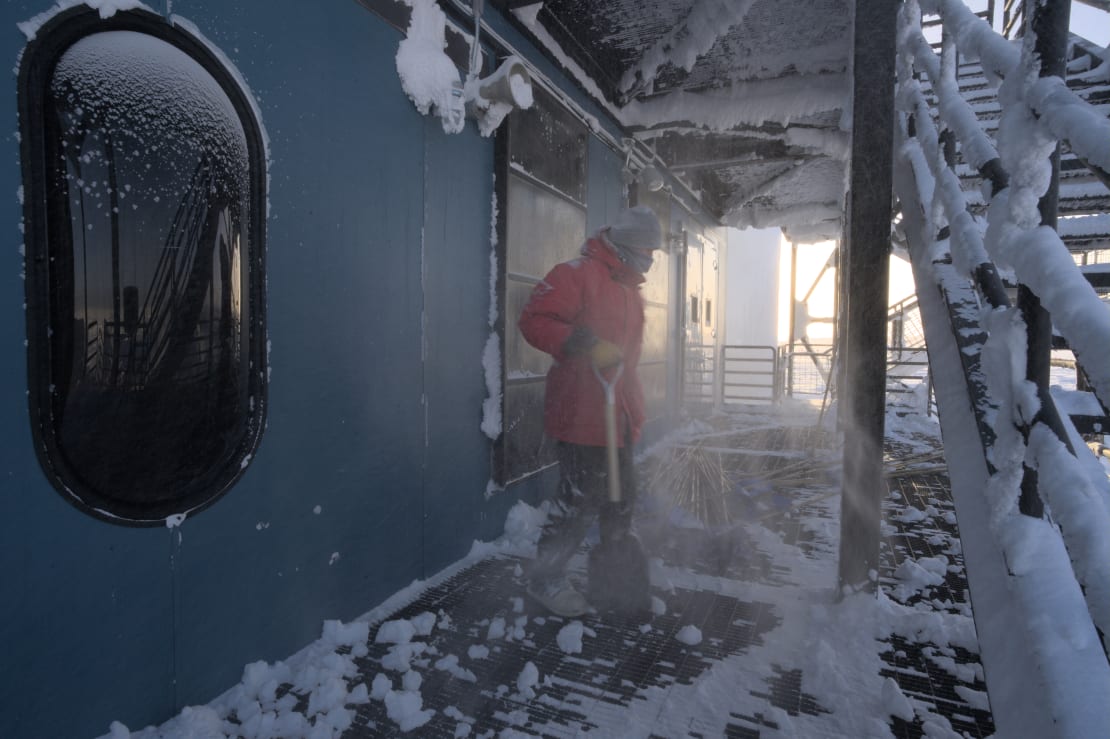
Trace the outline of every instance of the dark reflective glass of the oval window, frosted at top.
{"label": "dark reflective glass of the oval window, frosted at top", "polygon": [[230,485],[258,441],[261,193],[248,130],[201,63],[131,30],[69,45],[40,94],[46,193],[31,199],[47,243],[29,256],[48,265],[28,303],[48,324],[32,352],[49,357],[32,399],[48,469],[111,516],[189,510]]}

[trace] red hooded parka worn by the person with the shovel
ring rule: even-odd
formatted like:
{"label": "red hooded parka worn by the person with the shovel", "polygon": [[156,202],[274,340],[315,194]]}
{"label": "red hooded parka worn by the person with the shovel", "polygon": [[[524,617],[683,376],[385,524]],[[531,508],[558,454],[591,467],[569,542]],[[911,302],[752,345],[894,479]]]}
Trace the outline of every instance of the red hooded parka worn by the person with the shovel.
{"label": "red hooded parka worn by the person with the shovel", "polygon": [[[624,373],[616,386],[617,439],[639,439],[644,425],[644,391],[636,375],[644,340],[644,275],[625,264],[599,237],[589,239],[582,256],[557,264],[535,286],[521,313],[521,333],[529,344],[551,354],[544,397],[544,429],[562,442],[605,446],[605,391],[591,365],[589,353],[566,354],[576,327],[620,347]],[[615,370],[605,371],[612,377]],[[630,428],[629,428],[630,424]]]}

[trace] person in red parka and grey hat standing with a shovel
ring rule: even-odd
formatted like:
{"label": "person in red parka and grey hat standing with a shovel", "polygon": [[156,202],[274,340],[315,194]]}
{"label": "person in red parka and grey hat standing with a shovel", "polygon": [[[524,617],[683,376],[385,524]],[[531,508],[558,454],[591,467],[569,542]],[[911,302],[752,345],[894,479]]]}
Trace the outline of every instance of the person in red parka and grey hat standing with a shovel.
{"label": "person in red parka and grey hat standing with a shovel", "polygon": [[[521,313],[525,340],[554,358],[547,372],[544,431],[556,441],[559,487],[528,568],[528,593],[566,617],[589,608],[567,580],[566,564],[599,517],[603,545],[629,536],[636,497],[632,447],[644,424],[636,375],[644,337],[639,286],[663,232],[645,205],[622,211],[586,240],[581,255],[556,265],[535,286]],[[595,368],[615,385],[622,499],[608,500],[605,389]]]}

